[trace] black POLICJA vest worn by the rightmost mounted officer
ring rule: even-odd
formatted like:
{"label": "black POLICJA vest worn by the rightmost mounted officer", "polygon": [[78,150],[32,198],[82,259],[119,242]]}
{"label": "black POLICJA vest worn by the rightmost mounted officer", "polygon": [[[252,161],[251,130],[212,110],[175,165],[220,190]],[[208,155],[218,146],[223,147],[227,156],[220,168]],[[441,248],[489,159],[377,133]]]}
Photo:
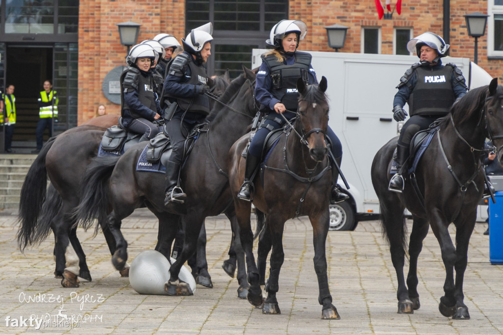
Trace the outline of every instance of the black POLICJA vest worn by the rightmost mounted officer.
{"label": "black POLICJA vest worn by the rightmost mounted officer", "polygon": [[407,101],[410,116],[412,115],[438,115],[449,113],[454,103],[451,76],[454,68],[442,66],[438,70],[429,67],[415,68],[416,84]]}

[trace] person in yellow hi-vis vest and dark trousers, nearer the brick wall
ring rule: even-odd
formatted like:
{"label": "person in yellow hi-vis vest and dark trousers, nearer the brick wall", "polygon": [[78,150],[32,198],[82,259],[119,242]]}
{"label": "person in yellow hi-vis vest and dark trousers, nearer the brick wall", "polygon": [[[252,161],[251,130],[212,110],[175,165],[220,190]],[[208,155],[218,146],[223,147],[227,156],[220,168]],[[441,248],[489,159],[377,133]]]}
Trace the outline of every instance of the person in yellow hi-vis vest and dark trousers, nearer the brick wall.
{"label": "person in yellow hi-vis vest and dark trousers, nearer the brick wall", "polygon": [[52,137],[52,120],[58,117],[58,94],[52,90],[49,80],[44,81],[44,91],[38,97],[39,120],[37,123],[37,149],[32,153],[38,153],[42,149],[45,128],[49,129],[49,137]]}

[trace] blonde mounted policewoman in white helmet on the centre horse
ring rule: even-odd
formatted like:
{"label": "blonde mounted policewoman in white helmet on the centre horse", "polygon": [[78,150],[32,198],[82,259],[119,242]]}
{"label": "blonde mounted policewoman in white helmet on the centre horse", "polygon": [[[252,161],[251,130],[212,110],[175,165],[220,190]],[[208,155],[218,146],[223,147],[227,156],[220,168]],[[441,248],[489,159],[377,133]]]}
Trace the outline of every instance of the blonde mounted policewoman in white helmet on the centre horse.
{"label": "blonde mounted policewoman in white helmet on the centre horse", "polygon": [[[274,129],[282,128],[286,121],[279,113],[291,120],[295,118],[298,108],[299,94],[296,89],[297,79],[303,78],[307,84],[317,83],[316,73],[311,65],[311,55],[297,51],[299,41],[304,39],[307,26],[299,20],[282,20],[270,33],[267,44],[274,49],[263,54],[262,65],[257,73],[255,97],[261,103],[261,111],[265,115],[259,130],[251,140],[246,155],[244,182],[237,197],[251,201],[253,176],[262,160],[262,150],[267,135]],[[332,162],[332,191],[330,202],[340,203],[349,197],[337,185],[339,169],[342,160],[342,145],[336,134],[328,127],[327,136],[331,140],[331,151],[335,159]]]}

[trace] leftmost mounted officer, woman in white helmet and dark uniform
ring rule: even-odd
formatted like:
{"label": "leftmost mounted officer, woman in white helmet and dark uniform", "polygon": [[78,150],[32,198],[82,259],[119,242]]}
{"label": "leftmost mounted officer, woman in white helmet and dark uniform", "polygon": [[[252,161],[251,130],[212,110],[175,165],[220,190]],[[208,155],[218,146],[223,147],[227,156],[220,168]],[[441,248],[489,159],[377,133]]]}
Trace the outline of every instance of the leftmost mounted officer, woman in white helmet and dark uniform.
{"label": "leftmost mounted officer, woman in white helmet and dark uniform", "polygon": [[159,101],[155,99],[155,82],[151,64],[156,52],[148,44],[136,44],[129,51],[127,70],[121,74],[123,125],[134,133],[142,134],[140,141],[153,138],[158,132],[154,120],[160,118]]}

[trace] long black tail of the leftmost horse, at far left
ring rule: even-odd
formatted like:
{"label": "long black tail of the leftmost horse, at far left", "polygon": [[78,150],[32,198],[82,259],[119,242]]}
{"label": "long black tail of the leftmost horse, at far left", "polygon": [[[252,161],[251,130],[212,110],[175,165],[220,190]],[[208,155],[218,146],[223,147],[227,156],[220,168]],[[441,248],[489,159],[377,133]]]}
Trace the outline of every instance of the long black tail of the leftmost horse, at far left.
{"label": "long black tail of the leftmost horse, at far left", "polygon": [[21,187],[19,201],[18,221],[18,245],[21,251],[28,244],[32,244],[39,236],[36,235],[36,227],[39,223],[40,211],[45,201],[47,189],[47,171],[45,169],[45,157],[54,144],[55,137],[51,137],[40,150],[37,158],[33,161]]}

